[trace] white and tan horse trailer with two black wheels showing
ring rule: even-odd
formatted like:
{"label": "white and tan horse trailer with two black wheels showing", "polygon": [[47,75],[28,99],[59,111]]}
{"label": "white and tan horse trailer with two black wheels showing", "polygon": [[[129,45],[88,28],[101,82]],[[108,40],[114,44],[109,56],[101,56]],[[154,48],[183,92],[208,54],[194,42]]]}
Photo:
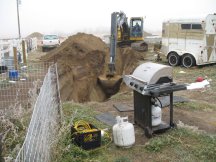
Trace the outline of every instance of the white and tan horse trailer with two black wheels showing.
{"label": "white and tan horse trailer with two black wheels showing", "polygon": [[216,14],[164,22],[161,52],[171,66],[216,63]]}

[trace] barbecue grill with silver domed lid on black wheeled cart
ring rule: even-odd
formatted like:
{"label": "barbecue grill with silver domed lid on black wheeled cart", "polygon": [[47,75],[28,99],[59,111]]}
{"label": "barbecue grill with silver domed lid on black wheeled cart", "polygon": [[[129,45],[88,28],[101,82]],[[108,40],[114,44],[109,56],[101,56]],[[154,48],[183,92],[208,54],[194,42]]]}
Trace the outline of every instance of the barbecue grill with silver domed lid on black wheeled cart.
{"label": "barbecue grill with silver domed lid on black wheeled cart", "polygon": [[[185,84],[173,83],[172,67],[147,62],[139,65],[132,75],[123,77],[134,94],[134,122],[141,126],[147,137],[175,127],[173,122],[173,92],[186,90]],[[152,126],[152,107],[157,106],[160,96],[170,96],[169,123]],[[162,105],[161,105],[162,106]]]}

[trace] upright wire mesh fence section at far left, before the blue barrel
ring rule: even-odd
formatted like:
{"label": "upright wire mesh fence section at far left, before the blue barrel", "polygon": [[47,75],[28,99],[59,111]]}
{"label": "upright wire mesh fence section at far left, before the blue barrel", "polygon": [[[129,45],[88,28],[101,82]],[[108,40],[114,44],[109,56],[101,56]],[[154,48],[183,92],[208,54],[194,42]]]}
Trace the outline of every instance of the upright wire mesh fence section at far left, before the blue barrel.
{"label": "upright wire mesh fence section at far left, before the blue barrel", "polygon": [[32,108],[47,69],[53,63],[20,65],[18,70],[6,70],[0,74],[0,110]]}

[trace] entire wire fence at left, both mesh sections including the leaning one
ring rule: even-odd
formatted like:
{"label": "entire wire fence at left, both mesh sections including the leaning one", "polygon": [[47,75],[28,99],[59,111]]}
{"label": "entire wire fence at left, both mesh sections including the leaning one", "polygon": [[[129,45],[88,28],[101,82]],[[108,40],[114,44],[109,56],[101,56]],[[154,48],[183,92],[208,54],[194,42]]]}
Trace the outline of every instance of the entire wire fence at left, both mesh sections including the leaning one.
{"label": "entire wire fence at left, both mesh sections including the leaning one", "polygon": [[[16,71],[0,74],[0,136],[5,160],[50,161],[51,142],[61,117],[58,88],[53,63],[20,65]],[[26,116],[31,116],[28,128]],[[10,145],[15,148],[6,148]]]}

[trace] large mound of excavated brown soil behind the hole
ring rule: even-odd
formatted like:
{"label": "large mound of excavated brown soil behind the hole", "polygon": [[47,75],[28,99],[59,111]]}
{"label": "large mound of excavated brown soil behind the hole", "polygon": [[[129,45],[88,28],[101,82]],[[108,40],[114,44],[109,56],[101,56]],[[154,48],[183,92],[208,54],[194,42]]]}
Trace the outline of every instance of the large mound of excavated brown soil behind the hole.
{"label": "large mound of excavated brown soil behind the hole", "polygon": [[[116,73],[129,74],[141,58],[130,48],[118,49]],[[60,93],[63,101],[103,101],[107,95],[98,84],[98,76],[108,68],[109,48],[98,37],[78,33],[70,36],[60,47],[41,57],[58,65]]]}

